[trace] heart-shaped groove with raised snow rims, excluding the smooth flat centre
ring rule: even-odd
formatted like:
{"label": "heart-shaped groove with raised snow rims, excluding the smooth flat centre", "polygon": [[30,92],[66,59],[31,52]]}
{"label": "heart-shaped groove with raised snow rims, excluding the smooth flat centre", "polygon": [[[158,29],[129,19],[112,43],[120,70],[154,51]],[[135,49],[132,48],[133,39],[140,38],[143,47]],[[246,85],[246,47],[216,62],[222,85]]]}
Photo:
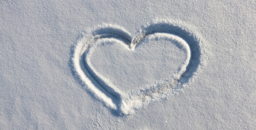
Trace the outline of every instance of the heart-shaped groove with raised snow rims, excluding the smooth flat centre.
{"label": "heart-shaped groove with raised snow rims, excluding the smooth flat centre", "polygon": [[[189,28],[180,21],[153,20],[148,25],[142,26],[138,34],[132,38],[128,31],[117,25],[100,26],[77,41],[72,58],[74,69],[85,86],[110,109],[115,110],[118,115],[132,114],[150,102],[168,98],[173,92],[189,83],[191,77],[203,65],[202,38],[191,29],[192,27]],[[125,44],[129,49],[134,50],[141,42],[154,38],[177,41],[186,52],[186,60],[180,70],[164,82],[139,91],[122,92],[118,86],[111,83],[111,80],[101,76],[86,59],[86,57],[90,58],[87,54],[97,42]]]}

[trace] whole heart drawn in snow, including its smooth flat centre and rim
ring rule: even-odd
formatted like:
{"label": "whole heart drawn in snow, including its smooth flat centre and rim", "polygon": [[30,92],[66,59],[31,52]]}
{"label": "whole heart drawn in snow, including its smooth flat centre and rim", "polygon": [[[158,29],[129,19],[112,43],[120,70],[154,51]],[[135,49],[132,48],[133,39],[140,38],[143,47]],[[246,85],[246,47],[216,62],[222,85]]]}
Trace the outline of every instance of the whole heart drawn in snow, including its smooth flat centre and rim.
{"label": "whole heart drawn in snow, including its smooth flat centre and rim", "polygon": [[200,65],[200,38],[170,20],[128,31],[106,25],[78,41],[74,69],[81,81],[108,107],[131,114],[165,99],[189,82]]}

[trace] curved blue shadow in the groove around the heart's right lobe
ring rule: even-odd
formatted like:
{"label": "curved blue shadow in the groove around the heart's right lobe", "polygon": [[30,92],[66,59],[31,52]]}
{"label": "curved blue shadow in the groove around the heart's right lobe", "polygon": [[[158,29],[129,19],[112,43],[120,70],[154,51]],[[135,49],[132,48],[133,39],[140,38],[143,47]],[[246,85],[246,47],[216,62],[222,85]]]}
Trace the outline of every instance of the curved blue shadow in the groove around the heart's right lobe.
{"label": "curved blue shadow in the groove around the heart's right lobe", "polygon": [[189,64],[186,67],[186,71],[182,74],[181,78],[179,79],[179,83],[184,84],[189,81],[189,79],[193,76],[194,72],[198,69],[200,65],[200,56],[201,56],[201,49],[200,49],[200,38],[196,36],[196,34],[192,34],[191,32],[187,31],[184,27],[179,27],[172,25],[170,23],[155,23],[151,24],[147,27],[144,27],[141,31],[141,35],[134,38],[133,43],[138,44],[143,40],[146,36],[155,33],[166,33],[166,34],[173,34],[176,35],[183,40],[190,47],[191,51],[191,58]]}

